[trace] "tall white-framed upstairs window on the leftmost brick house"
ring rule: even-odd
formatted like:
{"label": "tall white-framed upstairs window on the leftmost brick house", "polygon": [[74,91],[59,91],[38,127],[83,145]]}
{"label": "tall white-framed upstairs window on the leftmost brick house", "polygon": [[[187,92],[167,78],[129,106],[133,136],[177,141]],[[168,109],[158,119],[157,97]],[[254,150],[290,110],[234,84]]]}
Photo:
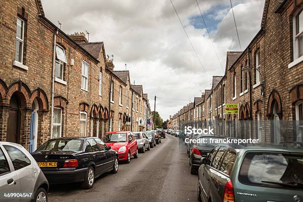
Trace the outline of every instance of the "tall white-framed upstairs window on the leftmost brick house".
{"label": "tall white-framed upstairs window on the leftmost brick house", "polygon": [[16,31],[16,55],[15,60],[23,62],[23,46],[24,46],[24,20],[17,18],[17,31]]}

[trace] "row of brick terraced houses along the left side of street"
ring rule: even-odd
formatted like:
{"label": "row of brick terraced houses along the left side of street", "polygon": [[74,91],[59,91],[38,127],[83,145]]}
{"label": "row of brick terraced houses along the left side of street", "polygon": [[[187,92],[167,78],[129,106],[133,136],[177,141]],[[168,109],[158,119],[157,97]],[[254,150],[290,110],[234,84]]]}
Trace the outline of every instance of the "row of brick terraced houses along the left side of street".
{"label": "row of brick terraced houses along the left side of street", "polygon": [[[46,18],[41,0],[0,2],[0,141],[29,151],[56,137],[146,130],[147,94],[131,110],[129,71],[115,71],[102,42],[67,35]],[[137,124],[136,122],[136,124]]]}

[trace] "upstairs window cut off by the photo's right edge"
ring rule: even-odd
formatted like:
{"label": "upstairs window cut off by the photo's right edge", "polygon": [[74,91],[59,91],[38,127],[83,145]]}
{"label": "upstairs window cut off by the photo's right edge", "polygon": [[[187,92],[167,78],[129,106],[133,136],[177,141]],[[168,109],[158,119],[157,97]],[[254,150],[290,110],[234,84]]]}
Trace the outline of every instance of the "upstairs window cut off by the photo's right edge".
{"label": "upstairs window cut off by the photo's right edge", "polygon": [[294,17],[294,60],[303,55],[303,12]]}

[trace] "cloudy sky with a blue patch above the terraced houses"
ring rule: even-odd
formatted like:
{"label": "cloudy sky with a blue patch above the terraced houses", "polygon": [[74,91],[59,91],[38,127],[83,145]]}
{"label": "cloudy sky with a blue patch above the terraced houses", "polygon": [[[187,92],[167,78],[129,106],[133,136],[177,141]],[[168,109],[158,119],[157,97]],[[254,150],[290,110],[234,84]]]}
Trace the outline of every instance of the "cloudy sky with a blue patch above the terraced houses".
{"label": "cloudy sky with a blue patch above the terraced houses", "polygon": [[[163,120],[201,92],[211,77],[223,75],[226,51],[240,50],[229,0],[42,0],[46,16],[62,23],[65,33],[90,33],[114,55],[115,70],[130,70],[131,82],[142,84]],[[232,0],[242,49],[259,31],[264,0]],[[219,59],[214,51],[216,50]],[[200,61],[201,63],[200,63]]]}

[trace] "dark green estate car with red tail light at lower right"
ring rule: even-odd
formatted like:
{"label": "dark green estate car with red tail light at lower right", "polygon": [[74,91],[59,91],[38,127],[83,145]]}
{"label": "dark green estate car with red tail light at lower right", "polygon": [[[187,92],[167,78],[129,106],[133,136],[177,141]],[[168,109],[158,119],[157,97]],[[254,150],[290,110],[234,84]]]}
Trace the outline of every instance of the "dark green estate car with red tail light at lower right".
{"label": "dark green estate car with red tail light at lower right", "polygon": [[294,202],[303,199],[303,150],[276,146],[216,146],[202,157],[203,202]]}

